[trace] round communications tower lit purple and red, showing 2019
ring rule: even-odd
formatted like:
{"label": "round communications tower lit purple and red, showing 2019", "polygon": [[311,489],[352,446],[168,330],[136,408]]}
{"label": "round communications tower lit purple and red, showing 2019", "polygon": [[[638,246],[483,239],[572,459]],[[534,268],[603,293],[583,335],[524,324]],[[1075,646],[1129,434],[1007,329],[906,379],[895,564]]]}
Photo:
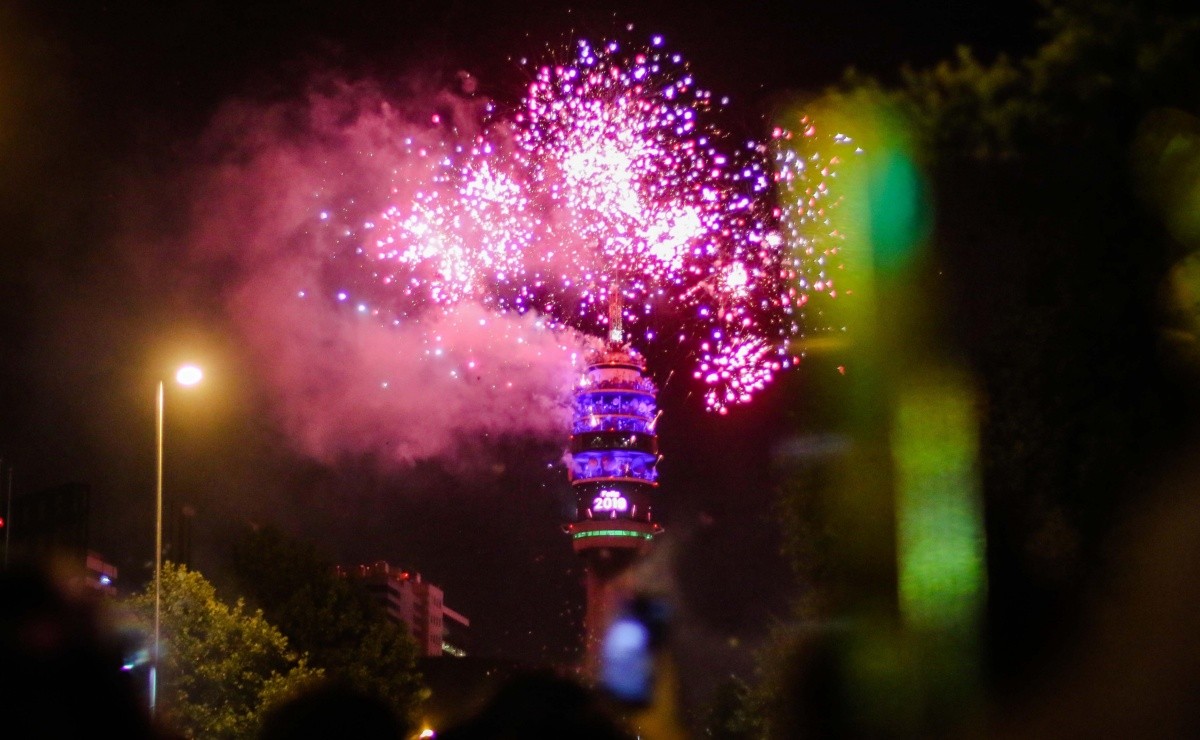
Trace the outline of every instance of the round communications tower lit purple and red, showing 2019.
{"label": "round communications tower lit purple and red, showing 2019", "polygon": [[575,391],[569,476],[575,516],[563,525],[583,558],[587,667],[624,595],[620,576],[662,531],[655,518],[658,389],[646,360],[624,341],[619,299],[608,307],[608,338],[587,359]]}

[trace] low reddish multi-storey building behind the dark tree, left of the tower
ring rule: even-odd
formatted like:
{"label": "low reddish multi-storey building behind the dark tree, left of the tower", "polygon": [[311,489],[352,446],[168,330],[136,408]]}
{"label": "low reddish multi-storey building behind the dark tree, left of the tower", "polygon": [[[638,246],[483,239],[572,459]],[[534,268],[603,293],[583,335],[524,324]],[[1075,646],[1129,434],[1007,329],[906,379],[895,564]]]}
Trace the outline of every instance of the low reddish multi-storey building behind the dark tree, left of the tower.
{"label": "low reddish multi-storey building behind the dark tree, left of the tower", "polygon": [[408,627],[421,655],[467,655],[466,631],[470,620],[445,606],[442,589],[424,580],[420,573],[384,561],[349,568],[340,566],[337,572],[361,580],[386,608],[388,616]]}

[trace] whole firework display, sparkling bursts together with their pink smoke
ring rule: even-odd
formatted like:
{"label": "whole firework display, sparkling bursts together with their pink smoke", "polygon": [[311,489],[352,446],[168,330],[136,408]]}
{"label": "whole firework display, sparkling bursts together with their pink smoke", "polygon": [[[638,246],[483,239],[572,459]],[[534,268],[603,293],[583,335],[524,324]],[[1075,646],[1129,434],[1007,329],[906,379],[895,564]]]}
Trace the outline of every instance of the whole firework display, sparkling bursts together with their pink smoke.
{"label": "whole firework display, sparkling bursts together with their pink smoke", "polygon": [[581,41],[529,76],[509,108],[326,80],[210,128],[193,254],[228,272],[304,452],[415,461],[491,432],[560,434],[612,302],[637,349],[694,362],[710,410],[793,362],[808,267],[772,199],[823,187],[811,168],[731,146],[712,124],[724,101],[659,38]]}

